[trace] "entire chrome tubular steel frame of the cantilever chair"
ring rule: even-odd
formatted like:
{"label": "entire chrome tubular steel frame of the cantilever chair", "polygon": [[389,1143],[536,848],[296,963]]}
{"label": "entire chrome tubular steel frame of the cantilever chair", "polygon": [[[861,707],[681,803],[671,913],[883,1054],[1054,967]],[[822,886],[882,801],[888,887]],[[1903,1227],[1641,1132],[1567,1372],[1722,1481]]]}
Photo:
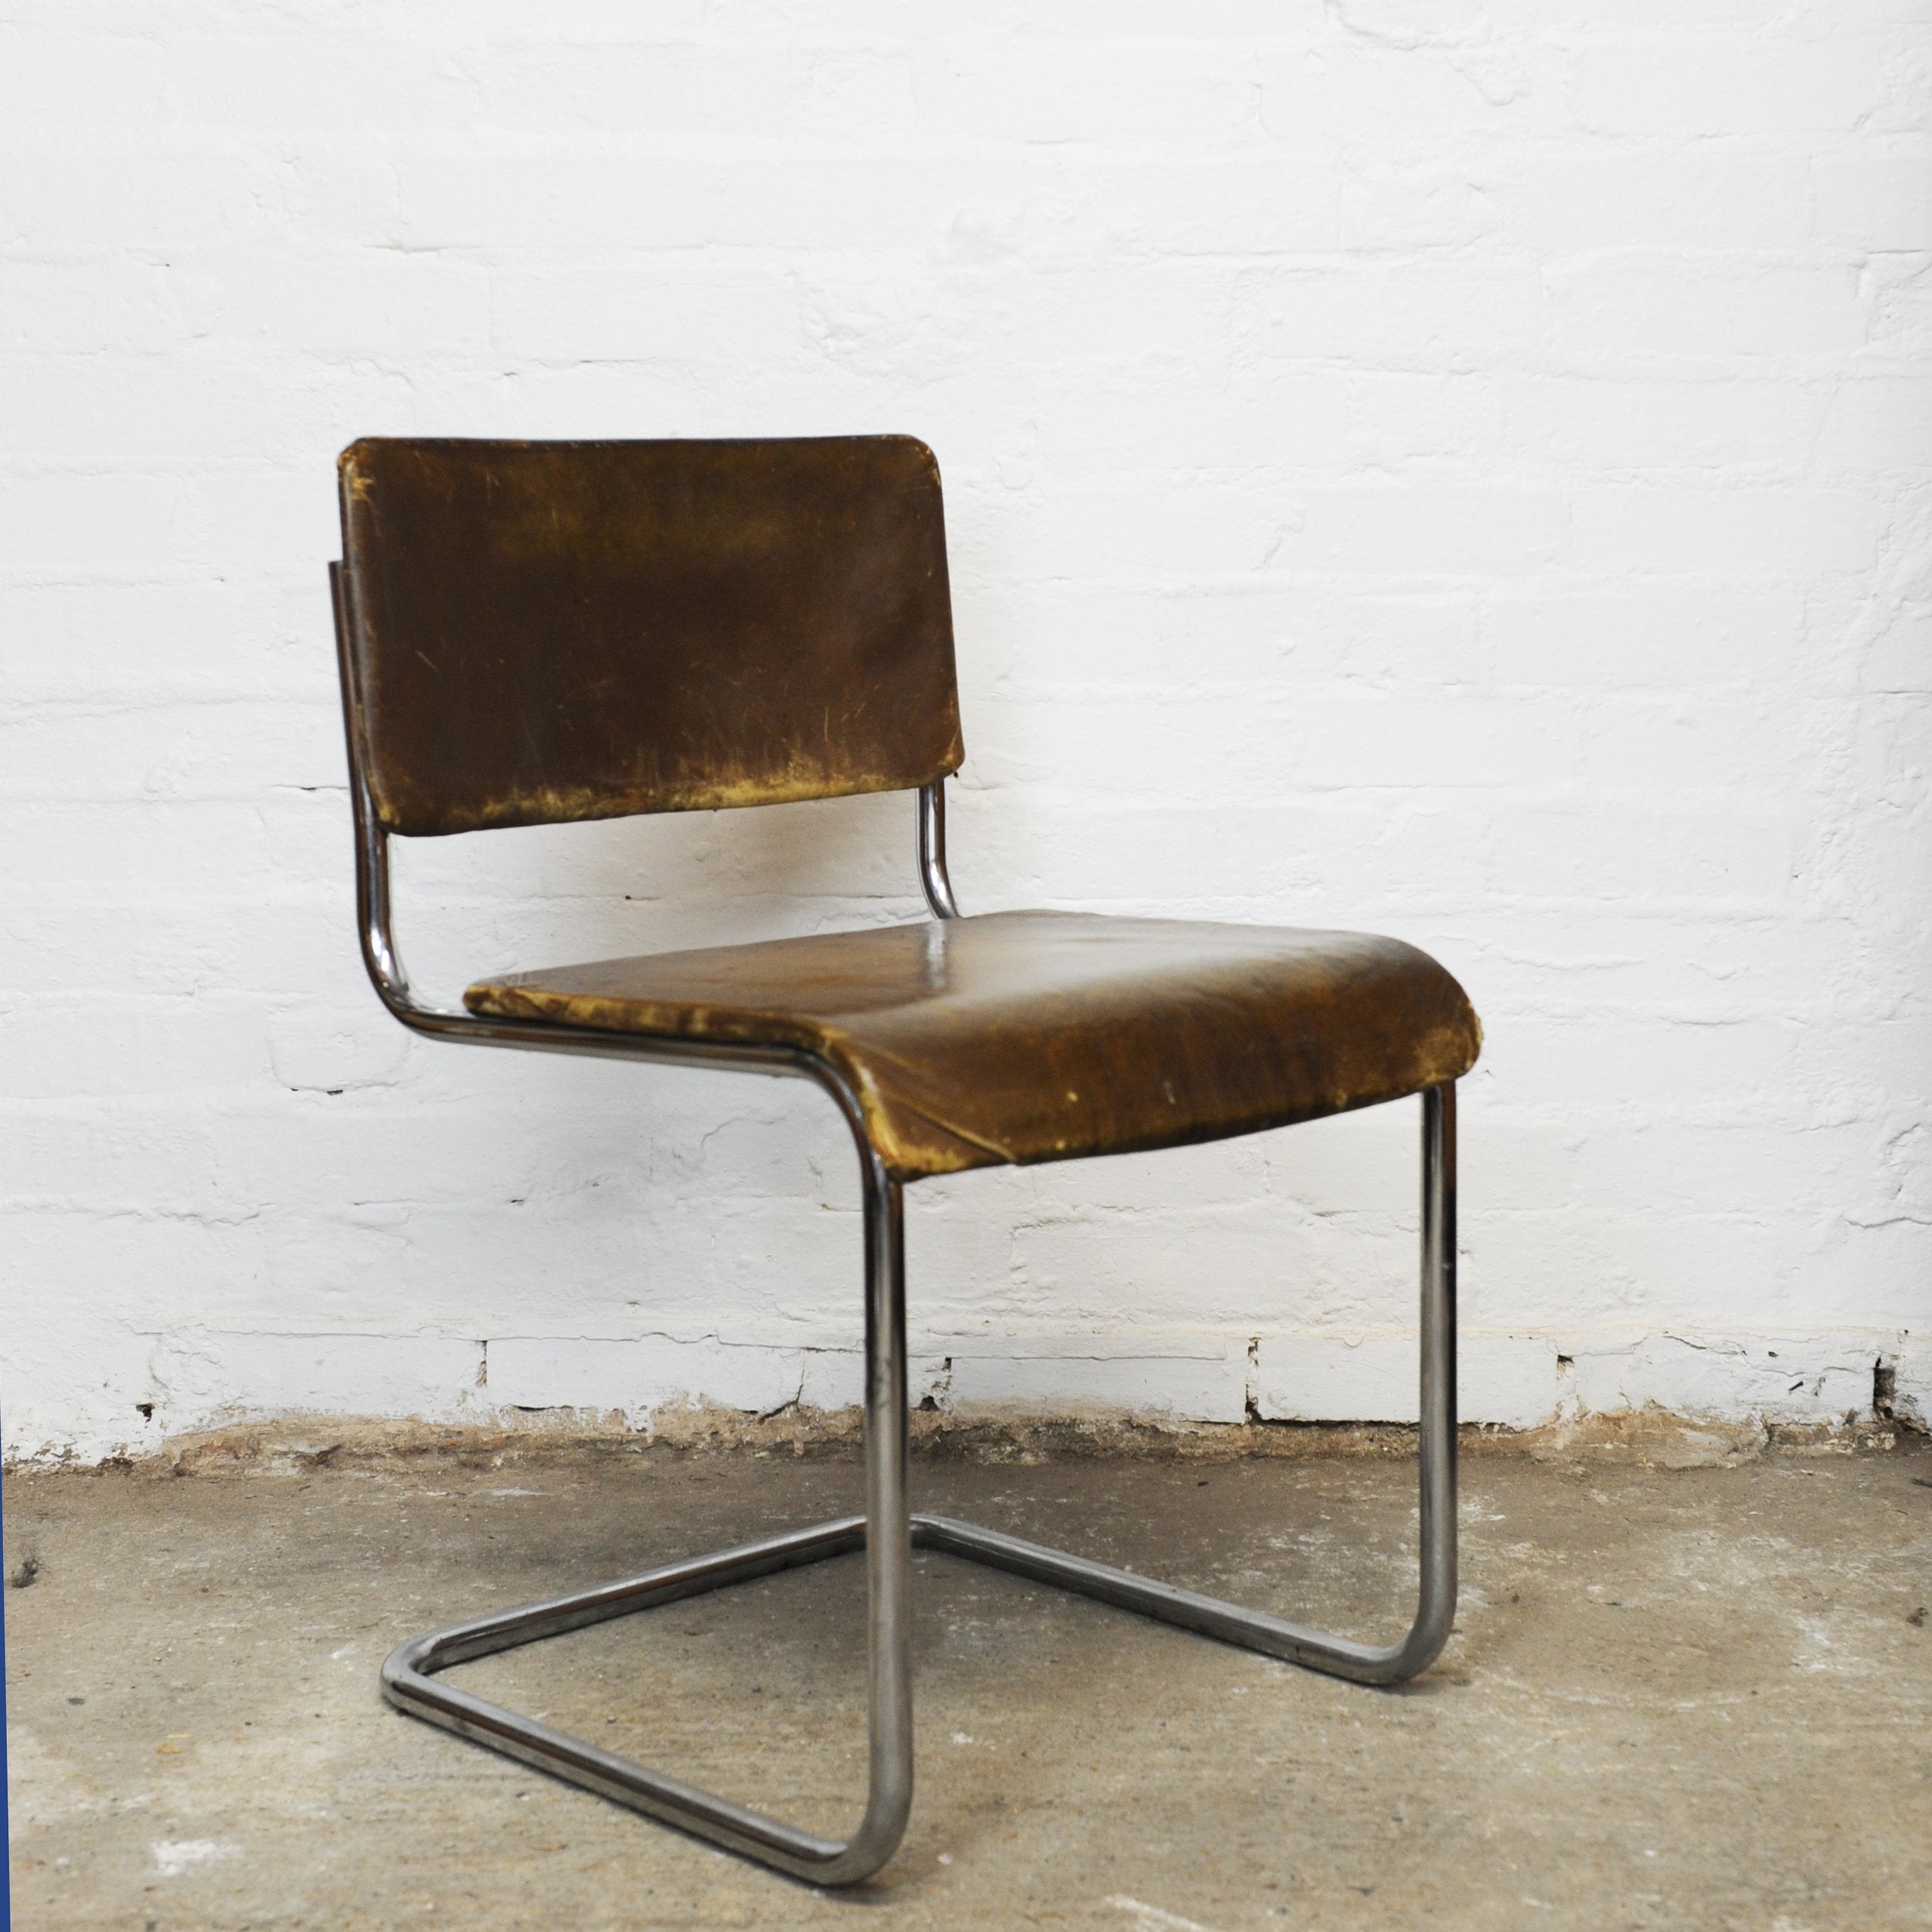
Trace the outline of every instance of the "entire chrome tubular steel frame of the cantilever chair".
{"label": "entire chrome tubular steel frame of the cantilever chair", "polygon": [[[344,688],[354,674],[344,622],[344,585],[330,566]],[[744,1853],[817,1886],[848,1886],[893,1857],[912,1810],[912,1551],[937,1549],[1049,1582],[1119,1609],[1132,1609],[1271,1658],[1329,1671],[1354,1683],[1391,1685],[1414,1677],[1441,1652],[1457,1596],[1457,1393],[1455,1393],[1455,1086],[1422,1095],[1422,1428],[1420,1588],[1414,1623],[1399,1642],[1376,1646],[1331,1636],[1258,1609],[1155,1582],[1063,1549],[1028,1544],[951,1517],[914,1515],[906,1472],[906,1260],[904,1192],[885,1173],[858,1095],[810,1053],[790,1047],[732,1047],[645,1034],[583,1034],[537,1020],[498,1020],[421,1005],[390,922],[388,835],[377,821],[350,728],[350,798],[355,813],[355,910],[363,962],[383,1005],[433,1039],[583,1053],[607,1059],[676,1061],[815,1080],[837,1103],[858,1144],[866,1209],[866,1515],[667,1563],[618,1582],[549,1598],[522,1609],[475,1617],[398,1646],[383,1665],[383,1694],[398,1710],[456,1731],[537,1770],[583,1785],[634,1810]],[[918,804],[920,883],[933,918],[960,916],[947,877],[943,781],[922,786]],[[866,1553],[869,1640],[869,1787],[866,1812],[848,1839],[802,1832],[732,1804],[663,1772],[440,1681],[456,1663],[560,1636],[726,1584],[825,1557]]]}

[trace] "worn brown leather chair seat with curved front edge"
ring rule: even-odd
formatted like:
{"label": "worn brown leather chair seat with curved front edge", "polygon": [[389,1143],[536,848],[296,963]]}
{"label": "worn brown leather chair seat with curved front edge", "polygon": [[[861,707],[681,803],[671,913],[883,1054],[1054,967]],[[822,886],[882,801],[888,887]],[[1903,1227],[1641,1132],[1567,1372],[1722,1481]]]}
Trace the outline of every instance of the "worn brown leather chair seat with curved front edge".
{"label": "worn brown leather chair seat with curved front edge", "polygon": [[898,1180],[1248,1134],[1457,1080],[1482,1028],[1372,933],[993,912],[558,966],[471,1012],[802,1047]]}

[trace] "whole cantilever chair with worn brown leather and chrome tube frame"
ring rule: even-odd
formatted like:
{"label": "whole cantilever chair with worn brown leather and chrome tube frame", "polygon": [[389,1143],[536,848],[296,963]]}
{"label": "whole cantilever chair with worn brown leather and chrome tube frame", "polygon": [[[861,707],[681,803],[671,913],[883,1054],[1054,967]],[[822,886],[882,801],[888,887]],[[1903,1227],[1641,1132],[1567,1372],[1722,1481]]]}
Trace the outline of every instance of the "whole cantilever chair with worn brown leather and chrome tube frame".
{"label": "whole cantilever chair with worn brown leather and chrome tube frame", "polygon": [[[858,1144],[866,1513],[477,1617],[398,1648],[412,1716],[821,1886],[912,1806],[912,1549],[943,1549],[1293,1663],[1385,1685],[1455,1613],[1455,1082],[1463,989],[1393,939],[1061,912],[960,914],[960,765],[939,471],[908,437],[371,439],[340,464],[332,566],[369,978],[433,1039],[815,1080]],[[918,794],[931,920],[485,980],[421,1005],[388,838],[638,811]],[[1304,1629],[906,1493],[904,1188],[1169,1148],[1422,1095],[1420,1602],[1387,1646]],[[844,1551],[866,1553],[871,1772],[844,1841],[645,1770],[439,1679],[469,1658]]]}

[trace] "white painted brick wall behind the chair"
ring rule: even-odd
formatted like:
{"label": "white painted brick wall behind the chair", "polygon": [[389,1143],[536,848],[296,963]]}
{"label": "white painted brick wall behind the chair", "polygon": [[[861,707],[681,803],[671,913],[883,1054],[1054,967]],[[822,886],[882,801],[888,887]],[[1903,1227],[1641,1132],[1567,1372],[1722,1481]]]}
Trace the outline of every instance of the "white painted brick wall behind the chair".
{"label": "white painted brick wall behind the chair", "polygon": [[[0,1403],[856,1393],[779,1082],[350,925],[363,433],[912,431],[974,908],[1461,974],[1468,1412],[1932,1412],[1924,0],[0,0]],[[898,800],[410,848],[437,991],[908,918]],[[1412,1109],[914,1190],[945,1403],[1399,1416]]]}

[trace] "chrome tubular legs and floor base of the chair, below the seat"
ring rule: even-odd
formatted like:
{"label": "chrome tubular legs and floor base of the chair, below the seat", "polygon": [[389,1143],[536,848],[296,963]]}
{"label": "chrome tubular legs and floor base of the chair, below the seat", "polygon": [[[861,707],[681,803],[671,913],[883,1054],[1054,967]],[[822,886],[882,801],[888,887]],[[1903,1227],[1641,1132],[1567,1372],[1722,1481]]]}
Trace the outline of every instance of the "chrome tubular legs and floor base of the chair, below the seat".
{"label": "chrome tubular legs and floor base of the chair, below the seat", "polygon": [[[1401,1642],[1378,1648],[1329,1636],[1265,1611],[1090,1563],[951,1517],[914,1517],[906,1497],[904,1200],[866,1153],[866,1515],[771,1536],[736,1549],[667,1563],[622,1582],[477,1617],[402,1644],[383,1665],[383,1694],[413,1718],[568,1777],[589,1791],[680,1826],[819,1886],[848,1886],[893,1857],[912,1810],[910,1582],[914,1548],[970,1557],[1057,1584],[1291,1663],[1387,1685],[1414,1677],[1441,1652],[1455,1621],[1455,1086],[1422,1095],[1422,1580]],[[520,1718],[437,1681],[437,1671],[543,1636],[628,1617],[724,1584],[825,1557],[866,1551],[871,1642],[871,1783],[866,1816],[844,1843],[746,1810],[663,1772]]]}

